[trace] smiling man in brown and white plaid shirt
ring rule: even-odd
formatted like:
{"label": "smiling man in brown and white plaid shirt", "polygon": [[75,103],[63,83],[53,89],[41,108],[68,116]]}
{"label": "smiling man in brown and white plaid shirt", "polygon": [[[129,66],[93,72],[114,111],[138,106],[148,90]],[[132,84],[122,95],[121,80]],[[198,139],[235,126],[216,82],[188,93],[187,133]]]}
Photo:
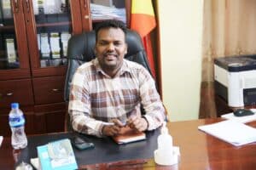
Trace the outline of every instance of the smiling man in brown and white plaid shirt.
{"label": "smiling man in brown and white plaid shirt", "polygon": [[114,136],[123,126],[153,130],[165,120],[154,79],[142,65],[124,59],[125,32],[121,21],[99,23],[96,59],[79,66],[73,76],[68,111],[79,133]]}

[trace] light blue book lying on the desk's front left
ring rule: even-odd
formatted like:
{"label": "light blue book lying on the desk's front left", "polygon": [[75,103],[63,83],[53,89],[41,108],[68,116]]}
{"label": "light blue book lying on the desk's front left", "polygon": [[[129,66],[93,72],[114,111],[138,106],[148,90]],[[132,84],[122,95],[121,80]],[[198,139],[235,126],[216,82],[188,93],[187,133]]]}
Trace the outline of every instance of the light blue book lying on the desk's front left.
{"label": "light blue book lying on the desk's front left", "polygon": [[42,170],[78,169],[69,139],[61,139],[37,147]]}

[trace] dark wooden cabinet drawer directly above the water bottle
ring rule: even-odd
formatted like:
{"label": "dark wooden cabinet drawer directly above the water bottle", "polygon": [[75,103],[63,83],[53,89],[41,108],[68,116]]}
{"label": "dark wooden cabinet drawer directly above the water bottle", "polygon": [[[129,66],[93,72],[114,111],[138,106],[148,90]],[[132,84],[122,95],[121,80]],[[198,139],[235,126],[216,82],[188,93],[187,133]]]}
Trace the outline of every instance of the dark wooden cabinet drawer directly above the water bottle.
{"label": "dark wooden cabinet drawer directly above the water bottle", "polygon": [[0,108],[10,108],[12,102],[33,105],[31,79],[0,81]]}

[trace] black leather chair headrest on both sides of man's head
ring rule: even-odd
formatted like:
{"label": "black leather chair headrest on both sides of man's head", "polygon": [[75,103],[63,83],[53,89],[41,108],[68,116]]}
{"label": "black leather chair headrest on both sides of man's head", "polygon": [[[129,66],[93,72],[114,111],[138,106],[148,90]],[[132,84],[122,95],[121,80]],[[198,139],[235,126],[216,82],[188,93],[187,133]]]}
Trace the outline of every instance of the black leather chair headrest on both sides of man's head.
{"label": "black leather chair headrest on both sides of man's head", "polygon": [[[94,48],[96,43],[95,31],[87,31],[74,35],[68,42],[67,57],[69,59],[79,59],[84,62],[95,58]],[[127,30],[126,43],[128,46],[125,58],[144,51],[143,42],[136,31]]]}

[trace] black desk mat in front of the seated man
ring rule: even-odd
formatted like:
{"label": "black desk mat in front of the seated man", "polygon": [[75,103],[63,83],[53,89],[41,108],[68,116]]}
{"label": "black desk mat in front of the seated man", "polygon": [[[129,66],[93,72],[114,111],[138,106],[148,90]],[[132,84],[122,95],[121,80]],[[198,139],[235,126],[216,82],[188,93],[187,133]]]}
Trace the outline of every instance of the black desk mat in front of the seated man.
{"label": "black desk mat in front of the seated man", "polygon": [[47,144],[58,139],[71,139],[73,135],[95,144],[94,149],[77,150],[73,147],[78,165],[90,165],[102,162],[148,159],[154,157],[157,149],[157,137],[160,129],[147,132],[147,139],[130,144],[116,144],[110,138],[97,138],[79,133],[51,133],[38,136],[29,136],[26,149],[22,150],[19,161],[30,162],[30,158],[38,157],[37,146]]}

